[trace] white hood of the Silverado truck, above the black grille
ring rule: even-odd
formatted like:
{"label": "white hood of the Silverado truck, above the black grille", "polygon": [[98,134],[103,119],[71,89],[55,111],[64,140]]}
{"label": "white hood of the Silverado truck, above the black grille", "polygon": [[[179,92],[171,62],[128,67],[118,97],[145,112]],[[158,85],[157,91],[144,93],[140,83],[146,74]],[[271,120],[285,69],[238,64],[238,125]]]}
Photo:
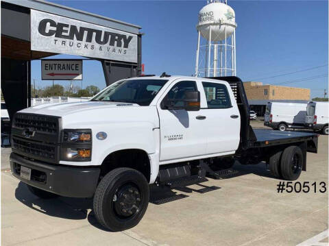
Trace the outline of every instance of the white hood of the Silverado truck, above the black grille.
{"label": "white hood of the Silverado truck, above the black grille", "polygon": [[83,101],[77,103],[51,103],[25,108],[20,112],[32,114],[48,114],[54,116],[65,116],[88,110],[106,110],[107,108],[140,107],[136,103],[122,103],[116,101]]}

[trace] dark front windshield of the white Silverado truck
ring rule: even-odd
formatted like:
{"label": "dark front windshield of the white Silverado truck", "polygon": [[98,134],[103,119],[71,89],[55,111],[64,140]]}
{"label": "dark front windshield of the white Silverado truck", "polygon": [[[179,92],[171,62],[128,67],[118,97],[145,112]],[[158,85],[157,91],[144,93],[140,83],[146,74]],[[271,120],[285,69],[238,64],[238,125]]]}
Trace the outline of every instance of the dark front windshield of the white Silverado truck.
{"label": "dark front windshield of the white Silverado truck", "polygon": [[149,106],[159,90],[167,83],[164,79],[130,79],[108,86],[91,101],[118,101]]}

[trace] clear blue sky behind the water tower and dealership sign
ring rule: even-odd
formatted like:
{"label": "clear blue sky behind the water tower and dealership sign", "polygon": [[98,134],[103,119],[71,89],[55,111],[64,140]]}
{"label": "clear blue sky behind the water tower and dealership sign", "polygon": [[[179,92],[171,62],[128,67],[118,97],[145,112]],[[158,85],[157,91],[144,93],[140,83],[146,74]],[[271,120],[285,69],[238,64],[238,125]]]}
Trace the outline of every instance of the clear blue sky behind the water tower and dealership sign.
{"label": "clear blue sky behind the water tower and dealership sign", "polygon": [[[143,27],[145,73],[194,73],[195,25],[206,1],[53,2]],[[228,0],[228,4],[235,10],[238,24],[236,67],[241,79],[311,88],[311,97],[323,97],[324,88],[328,92],[328,76],[319,77],[328,75],[328,1]],[[308,79],[311,77],[315,78]],[[286,83],[305,78],[308,80]],[[40,61],[32,62],[32,79],[36,79],[36,86],[52,83],[40,80]],[[90,84],[105,87],[99,62],[84,61],[83,87]]]}

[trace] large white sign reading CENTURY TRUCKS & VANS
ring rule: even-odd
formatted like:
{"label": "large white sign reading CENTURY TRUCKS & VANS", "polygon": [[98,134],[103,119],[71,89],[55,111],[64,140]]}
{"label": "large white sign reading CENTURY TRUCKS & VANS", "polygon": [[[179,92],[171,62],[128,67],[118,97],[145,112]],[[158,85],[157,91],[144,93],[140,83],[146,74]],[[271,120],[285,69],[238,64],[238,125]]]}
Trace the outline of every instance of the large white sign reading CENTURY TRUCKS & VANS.
{"label": "large white sign reading CENTURY TRUCKS & VANS", "polygon": [[31,49],[137,62],[137,35],[31,10]]}

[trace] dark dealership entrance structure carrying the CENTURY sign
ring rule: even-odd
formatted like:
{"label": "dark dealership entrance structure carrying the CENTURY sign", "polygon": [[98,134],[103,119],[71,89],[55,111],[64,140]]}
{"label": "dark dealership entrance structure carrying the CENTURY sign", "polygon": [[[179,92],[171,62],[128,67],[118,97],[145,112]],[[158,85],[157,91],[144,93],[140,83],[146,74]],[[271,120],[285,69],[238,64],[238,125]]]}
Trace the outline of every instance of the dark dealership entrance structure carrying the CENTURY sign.
{"label": "dark dealership entrance structure carrying the CENTURY sign", "polygon": [[12,115],[31,104],[31,61],[97,60],[106,85],[141,74],[141,27],[40,0],[1,1],[1,92]]}

